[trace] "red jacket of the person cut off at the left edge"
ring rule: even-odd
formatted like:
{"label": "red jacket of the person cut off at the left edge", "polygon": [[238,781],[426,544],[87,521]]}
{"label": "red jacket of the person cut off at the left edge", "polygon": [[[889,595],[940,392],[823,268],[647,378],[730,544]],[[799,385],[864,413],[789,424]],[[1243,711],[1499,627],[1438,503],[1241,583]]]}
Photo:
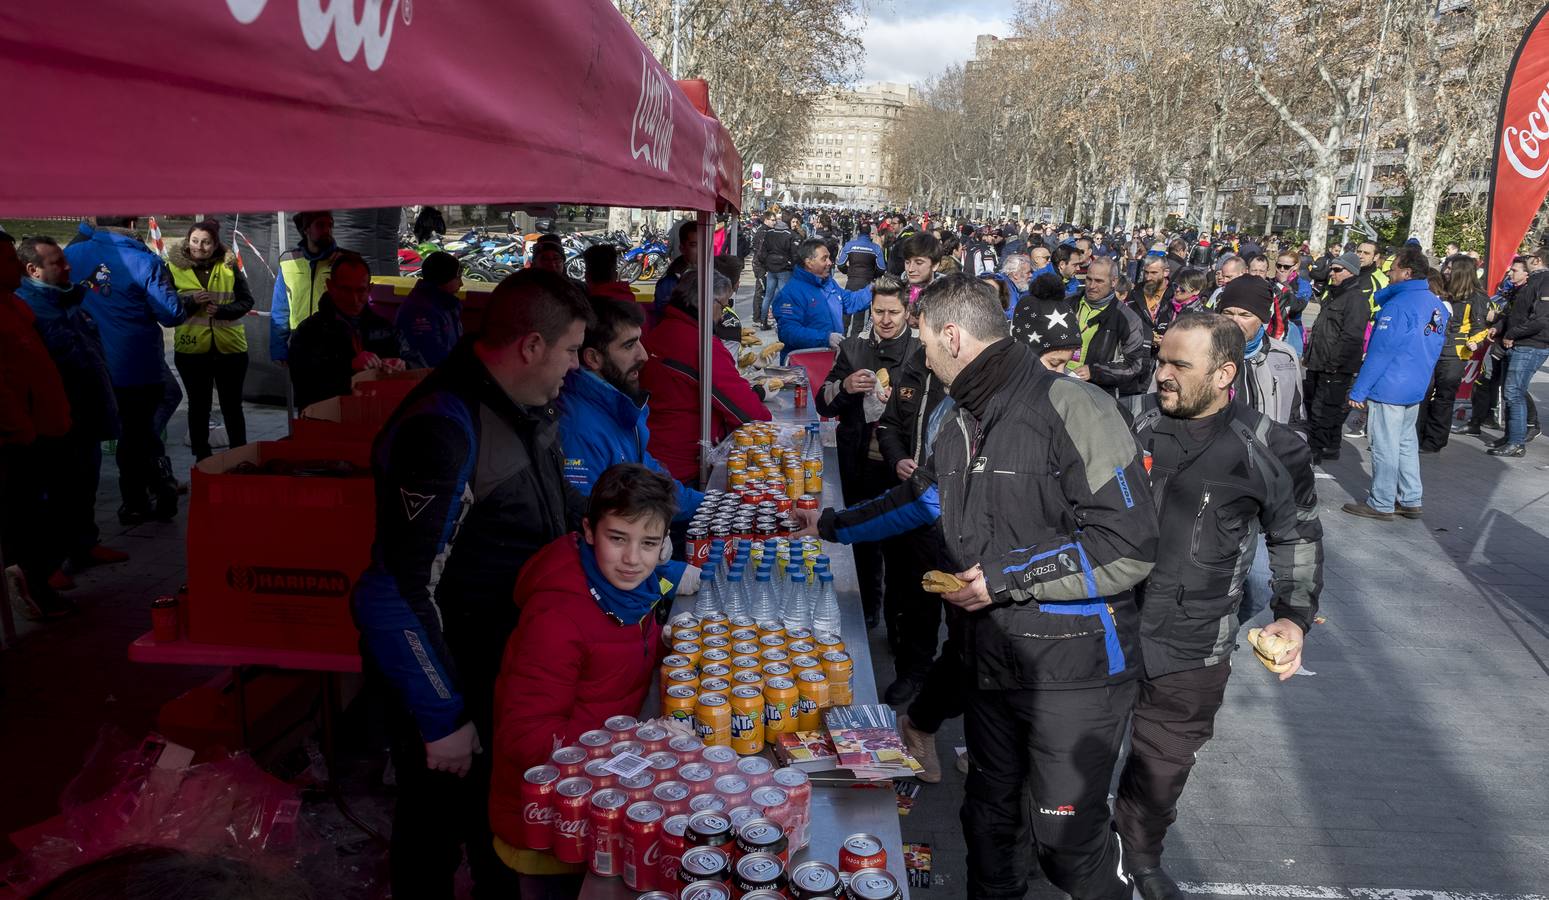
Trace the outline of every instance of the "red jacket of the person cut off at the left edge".
{"label": "red jacket of the person cut off at the left edge", "polygon": [[33,308],[0,293],[0,445],[25,446],[70,431],[70,400]]}

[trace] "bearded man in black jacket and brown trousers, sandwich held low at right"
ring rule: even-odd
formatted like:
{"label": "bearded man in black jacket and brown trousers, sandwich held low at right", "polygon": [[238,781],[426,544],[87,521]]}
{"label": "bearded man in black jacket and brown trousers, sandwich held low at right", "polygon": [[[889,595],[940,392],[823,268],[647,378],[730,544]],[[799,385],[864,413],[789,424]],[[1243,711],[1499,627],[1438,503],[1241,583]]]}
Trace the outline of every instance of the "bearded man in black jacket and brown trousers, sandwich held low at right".
{"label": "bearded man in black jacket and brown trousers, sandwich held low at right", "polygon": [[1151,455],[1160,544],[1139,590],[1145,668],[1114,826],[1139,894],[1179,900],[1162,869],[1162,840],[1225,697],[1258,533],[1269,545],[1275,592],[1275,621],[1264,634],[1287,641],[1266,666],[1286,682],[1318,610],[1323,527],[1307,445],[1231,401],[1242,369],[1236,322],[1216,313],[1180,316],[1162,338],[1157,362],[1157,393],[1129,401],[1135,438]]}

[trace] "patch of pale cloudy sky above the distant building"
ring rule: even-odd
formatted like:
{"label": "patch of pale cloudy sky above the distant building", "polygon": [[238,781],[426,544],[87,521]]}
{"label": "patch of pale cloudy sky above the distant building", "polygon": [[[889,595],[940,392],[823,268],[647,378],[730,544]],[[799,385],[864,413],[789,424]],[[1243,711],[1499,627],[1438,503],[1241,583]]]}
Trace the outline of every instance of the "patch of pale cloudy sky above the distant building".
{"label": "patch of pale cloudy sky above the distant building", "polygon": [[917,84],[973,59],[979,34],[1005,37],[1013,3],[970,0],[866,0],[863,82]]}

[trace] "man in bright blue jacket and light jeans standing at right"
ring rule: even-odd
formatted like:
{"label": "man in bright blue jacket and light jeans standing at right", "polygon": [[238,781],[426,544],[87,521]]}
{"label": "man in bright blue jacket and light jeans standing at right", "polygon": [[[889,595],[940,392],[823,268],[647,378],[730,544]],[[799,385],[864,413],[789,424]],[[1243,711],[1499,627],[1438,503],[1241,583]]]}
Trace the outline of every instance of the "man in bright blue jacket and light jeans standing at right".
{"label": "man in bright blue jacket and light jeans standing at right", "polygon": [[1427,283],[1430,263],[1417,246],[1394,256],[1391,283],[1377,291],[1382,307],[1366,345],[1366,361],[1351,389],[1351,406],[1366,410],[1371,435],[1371,493],[1345,503],[1351,516],[1391,522],[1420,517],[1420,401],[1447,341],[1447,304]]}

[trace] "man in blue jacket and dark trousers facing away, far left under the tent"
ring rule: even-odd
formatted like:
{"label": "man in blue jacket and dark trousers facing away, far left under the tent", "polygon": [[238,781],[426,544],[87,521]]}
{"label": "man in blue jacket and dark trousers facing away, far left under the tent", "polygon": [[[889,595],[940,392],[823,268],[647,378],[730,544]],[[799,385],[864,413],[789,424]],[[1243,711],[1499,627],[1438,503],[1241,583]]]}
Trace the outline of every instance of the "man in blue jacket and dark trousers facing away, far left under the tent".
{"label": "man in blue jacket and dark trousers facing away, far left under the tent", "polygon": [[124,525],[169,522],[178,514],[178,483],[155,418],[166,392],[161,328],[180,325],[186,314],[172,273],[135,237],[132,217],[98,217],[96,226],[82,222],[65,259],[90,288],[84,308],[102,335],[118,398],[118,519]]}

